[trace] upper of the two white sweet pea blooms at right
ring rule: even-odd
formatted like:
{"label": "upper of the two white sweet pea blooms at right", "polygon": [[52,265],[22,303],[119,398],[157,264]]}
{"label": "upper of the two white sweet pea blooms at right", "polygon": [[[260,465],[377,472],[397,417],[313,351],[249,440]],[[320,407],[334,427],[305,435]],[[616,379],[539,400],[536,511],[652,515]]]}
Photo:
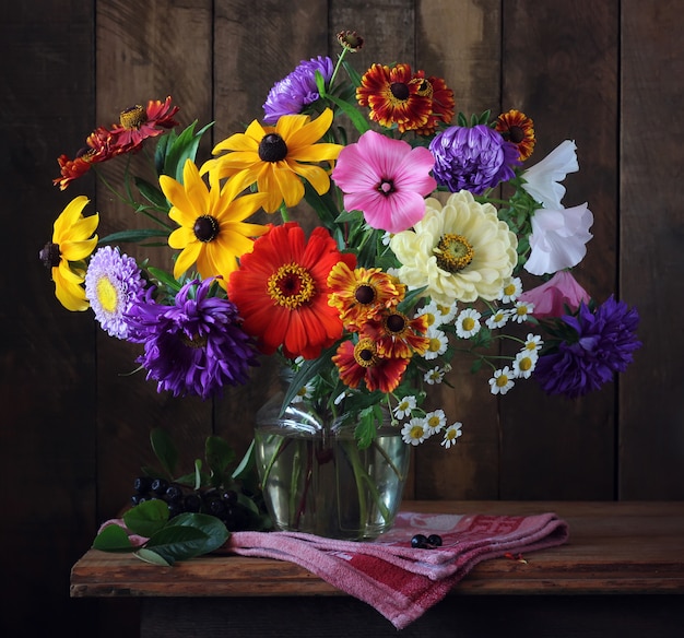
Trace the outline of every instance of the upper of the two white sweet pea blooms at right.
{"label": "upper of the two white sweet pea blooms at right", "polygon": [[571,140],[561,142],[546,157],[523,174],[522,188],[545,209],[561,209],[565,194],[563,181],[568,173],[579,170],[577,145]]}

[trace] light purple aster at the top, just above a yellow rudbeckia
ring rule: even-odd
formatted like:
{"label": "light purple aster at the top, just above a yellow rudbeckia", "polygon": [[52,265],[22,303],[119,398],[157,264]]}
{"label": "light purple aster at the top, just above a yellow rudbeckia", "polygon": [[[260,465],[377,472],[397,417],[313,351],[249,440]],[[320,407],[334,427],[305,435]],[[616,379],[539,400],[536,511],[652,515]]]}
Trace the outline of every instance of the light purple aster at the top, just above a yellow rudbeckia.
{"label": "light purple aster at the top, just above a yellow rudbeckia", "polygon": [[290,75],[276,82],[263,104],[263,121],[274,125],[283,115],[297,115],[305,106],[312,104],[320,96],[316,86],[316,71],[320,71],[326,83],[332,78],[332,60],[318,56],[302,60]]}

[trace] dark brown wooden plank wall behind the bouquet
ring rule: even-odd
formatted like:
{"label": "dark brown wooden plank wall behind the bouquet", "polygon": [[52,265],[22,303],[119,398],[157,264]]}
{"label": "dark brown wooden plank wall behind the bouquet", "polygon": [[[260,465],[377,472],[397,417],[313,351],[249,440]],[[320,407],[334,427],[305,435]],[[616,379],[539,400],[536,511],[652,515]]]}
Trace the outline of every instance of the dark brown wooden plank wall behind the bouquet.
{"label": "dark brown wooden plank wall behind the bouquet", "polygon": [[449,452],[417,450],[409,495],[684,498],[683,27],[676,0],[3,3],[0,634],[134,635],[134,604],[68,599],[71,564],[151,460],[151,427],[167,426],[188,459],[212,432],[243,450],[272,377],[267,365],[249,387],[203,403],[127,376],[135,350],[90,312],[63,310],[37,252],[76,193],[93,198],[102,234],[130,213],[90,177],[59,192],[56,157],[121,109],[167,94],[184,125],[215,120],[215,139],[243,130],[299,60],[337,54],[340,28],[366,38],[359,70],[406,61],[444,75],[464,113],[526,111],[538,158],[575,139],[581,169],[565,202],[588,201],[595,220],[577,276],[642,316],[636,365],[575,402],[532,383],[494,401],[486,379],[457,365],[457,389],[439,401],[464,435]]}

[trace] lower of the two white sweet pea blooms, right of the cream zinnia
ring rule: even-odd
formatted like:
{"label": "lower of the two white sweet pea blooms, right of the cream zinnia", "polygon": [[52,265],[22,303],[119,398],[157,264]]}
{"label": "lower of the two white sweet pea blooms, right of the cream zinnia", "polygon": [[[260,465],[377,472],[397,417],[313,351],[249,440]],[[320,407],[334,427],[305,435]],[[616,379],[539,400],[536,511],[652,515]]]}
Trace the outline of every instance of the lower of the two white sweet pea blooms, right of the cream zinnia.
{"label": "lower of the two white sweet pea blooms, right of the cream zinnia", "polygon": [[587,255],[593,214],[587,204],[571,209],[539,209],[532,215],[530,256],[524,270],[532,274],[554,274],[577,265]]}

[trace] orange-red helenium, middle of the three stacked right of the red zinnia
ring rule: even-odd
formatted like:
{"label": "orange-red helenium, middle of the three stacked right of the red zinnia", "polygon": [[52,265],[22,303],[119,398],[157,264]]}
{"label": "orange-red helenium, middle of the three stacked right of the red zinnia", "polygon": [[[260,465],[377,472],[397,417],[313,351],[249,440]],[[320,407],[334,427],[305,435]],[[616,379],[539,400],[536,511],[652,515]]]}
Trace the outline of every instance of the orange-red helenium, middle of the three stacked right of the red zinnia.
{"label": "orange-red helenium, middle of the three stacked right of the red zinnia", "polygon": [[411,358],[413,353],[424,354],[429,347],[429,338],[425,336],[428,321],[425,315],[409,319],[403,312],[390,308],[369,319],[363,334],[376,343],[380,356]]}

